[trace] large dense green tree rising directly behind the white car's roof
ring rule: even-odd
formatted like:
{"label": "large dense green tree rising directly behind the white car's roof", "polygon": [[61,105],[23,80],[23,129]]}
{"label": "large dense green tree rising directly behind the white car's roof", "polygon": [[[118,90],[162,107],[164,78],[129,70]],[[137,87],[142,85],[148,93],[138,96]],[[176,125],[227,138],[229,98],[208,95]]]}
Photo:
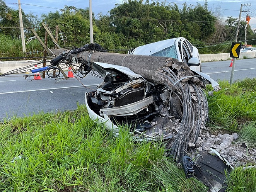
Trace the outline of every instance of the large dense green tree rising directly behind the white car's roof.
{"label": "large dense green tree rising directly behind the white car's roof", "polygon": [[114,32],[144,44],[176,36],[175,31],[181,24],[179,12],[165,3],[143,3],[142,0],[128,0],[116,6],[110,10],[110,19]]}

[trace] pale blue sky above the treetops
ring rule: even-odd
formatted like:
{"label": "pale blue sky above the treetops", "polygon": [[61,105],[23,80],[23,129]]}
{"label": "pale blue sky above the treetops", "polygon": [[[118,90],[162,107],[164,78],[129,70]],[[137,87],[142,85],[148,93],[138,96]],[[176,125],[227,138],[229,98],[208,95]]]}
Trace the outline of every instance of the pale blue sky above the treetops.
{"label": "pale blue sky above the treetops", "polygon": [[[108,12],[115,7],[116,3],[123,3],[123,0],[92,0],[92,12],[97,18],[97,14],[102,13],[107,15]],[[152,0],[150,0],[152,2]],[[164,0],[158,0],[164,2]],[[176,3],[179,8],[183,7],[183,3],[187,5],[203,4],[204,0],[166,0],[167,3]],[[251,20],[249,24],[251,29],[256,29],[256,0],[207,0],[208,9],[212,11],[213,15],[227,19],[227,16],[239,18],[239,12],[242,6],[241,20],[246,19],[246,14],[250,15]],[[18,9],[18,0],[5,0],[5,3],[14,9]],[[48,12],[55,12],[67,6],[74,6],[76,8],[85,9],[89,7],[89,0],[20,0],[21,8],[28,14],[34,15],[47,14]]]}

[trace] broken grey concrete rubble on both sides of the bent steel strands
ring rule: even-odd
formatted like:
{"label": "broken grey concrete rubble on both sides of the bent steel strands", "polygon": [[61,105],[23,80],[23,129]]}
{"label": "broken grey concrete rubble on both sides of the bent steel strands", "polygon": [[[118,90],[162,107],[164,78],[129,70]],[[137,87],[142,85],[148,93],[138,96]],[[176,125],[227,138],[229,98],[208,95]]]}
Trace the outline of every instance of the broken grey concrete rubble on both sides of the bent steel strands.
{"label": "broken grey concrete rubble on both sides of the bent steel strands", "polygon": [[[169,149],[179,131],[179,121],[180,119],[173,119],[173,117],[166,116],[163,113],[161,116],[155,117],[153,121],[150,122],[152,127],[147,129],[146,133],[150,136],[170,139],[166,147]],[[188,155],[196,160],[200,157],[198,151],[206,150],[211,154],[213,152],[210,148],[213,148],[229,161],[233,167],[247,165],[247,163],[256,165],[256,149],[248,148],[246,143],[238,142],[238,138],[239,135],[237,133],[210,134],[207,127],[203,127],[196,142],[188,143],[188,148],[191,149]]]}

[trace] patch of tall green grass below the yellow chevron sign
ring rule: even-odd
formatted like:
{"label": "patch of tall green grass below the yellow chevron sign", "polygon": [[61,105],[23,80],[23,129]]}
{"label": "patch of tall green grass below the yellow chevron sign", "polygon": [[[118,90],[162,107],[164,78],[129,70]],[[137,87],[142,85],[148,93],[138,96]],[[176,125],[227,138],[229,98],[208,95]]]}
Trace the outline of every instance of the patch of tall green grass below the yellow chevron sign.
{"label": "patch of tall green grass below the yellow chevron sign", "polygon": [[[208,125],[238,132],[247,121],[256,121],[256,78],[240,80],[231,86],[219,82],[222,90],[207,95],[210,123]],[[208,89],[207,89],[208,90]]]}

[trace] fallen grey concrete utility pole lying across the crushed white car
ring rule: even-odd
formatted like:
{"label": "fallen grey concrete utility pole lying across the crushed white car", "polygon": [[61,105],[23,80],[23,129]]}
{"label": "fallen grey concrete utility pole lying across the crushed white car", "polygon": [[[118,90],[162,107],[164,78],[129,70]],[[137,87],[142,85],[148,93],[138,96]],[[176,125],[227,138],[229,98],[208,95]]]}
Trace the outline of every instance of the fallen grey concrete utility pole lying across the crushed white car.
{"label": "fallen grey concrete utility pole lying across the crushed white car", "polygon": [[[159,71],[162,67],[168,67],[171,70],[177,71],[176,75],[179,78],[184,78],[186,76],[194,76],[193,72],[190,70],[189,66],[182,63],[174,58],[157,57],[157,56],[144,56],[144,55],[133,55],[133,54],[119,54],[119,53],[106,53],[106,52],[92,52],[92,51],[82,51],[77,54],[67,54],[71,50],[64,49],[51,49],[51,51],[56,55],[64,54],[67,59],[72,61],[72,57],[76,56],[79,63],[92,63],[101,62],[113,65],[125,66],[135,73],[142,75],[145,79],[150,80],[155,83],[162,84],[162,80],[159,79]],[[183,81],[188,80],[185,78]],[[195,83],[200,83],[200,80],[193,78],[191,79]],[[201,84],[201,83],[200,83]]]}

